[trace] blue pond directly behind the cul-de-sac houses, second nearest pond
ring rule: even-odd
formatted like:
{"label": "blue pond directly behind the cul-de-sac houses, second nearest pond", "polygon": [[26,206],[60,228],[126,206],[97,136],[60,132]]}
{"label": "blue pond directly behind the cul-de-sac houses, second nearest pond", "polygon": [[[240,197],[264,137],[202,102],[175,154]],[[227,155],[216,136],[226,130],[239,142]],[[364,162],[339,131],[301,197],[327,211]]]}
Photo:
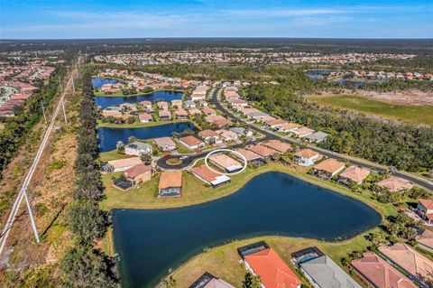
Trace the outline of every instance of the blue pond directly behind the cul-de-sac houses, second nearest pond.
{"label": "blue pond directly behind the cul-de-sac houses, second nearest pond", "polygon": [[152,139],[165,136],[171,136],[173,132],[183,132],[187,128],[194,130],[194,125],[190,122],[171,123],[164,125],[155,125],[141,128],[97,128],[97,137],[99,150],[107,152],[115,150],[117,141],[122,141],[124,144],[128,142],[128,138],[134,136],[138,139]]}

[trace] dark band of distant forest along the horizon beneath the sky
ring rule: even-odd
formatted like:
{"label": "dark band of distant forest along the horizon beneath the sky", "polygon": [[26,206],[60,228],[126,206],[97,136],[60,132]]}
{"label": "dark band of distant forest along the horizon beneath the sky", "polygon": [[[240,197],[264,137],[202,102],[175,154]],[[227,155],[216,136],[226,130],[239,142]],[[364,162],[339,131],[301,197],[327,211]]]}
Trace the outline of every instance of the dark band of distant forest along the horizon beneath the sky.
{"label": "dark band of distant forest along the horizon beneath the sky", "polygon": [[[30,45],[32,44],[32,45]],[[433,54],[431,39],[314,39],[314,38],[152,38],[95,40],[3,40],[0,51],[74,50],[88,53],[140,51],[269,49],[277,51],[398,52]]]}

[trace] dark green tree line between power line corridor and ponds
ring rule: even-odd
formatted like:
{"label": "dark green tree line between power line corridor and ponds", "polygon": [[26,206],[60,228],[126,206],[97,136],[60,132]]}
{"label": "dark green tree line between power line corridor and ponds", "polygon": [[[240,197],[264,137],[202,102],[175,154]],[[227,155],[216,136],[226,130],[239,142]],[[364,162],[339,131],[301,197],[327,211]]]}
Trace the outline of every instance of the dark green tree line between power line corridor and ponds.
{"label": "dark green tree line between power line corridor and ponds", "polygon": [[62,258],[61,280],[65,287],[119,287],[115,261],[94,247],[95,242],[105,236],[109,218],[98,206],[98,201],[104,198],[104,185],[97,163],[97,111],[88,73],[83,77],[82,94],[75,163],[76,190],[69,207],[69,229],[74,244]]}

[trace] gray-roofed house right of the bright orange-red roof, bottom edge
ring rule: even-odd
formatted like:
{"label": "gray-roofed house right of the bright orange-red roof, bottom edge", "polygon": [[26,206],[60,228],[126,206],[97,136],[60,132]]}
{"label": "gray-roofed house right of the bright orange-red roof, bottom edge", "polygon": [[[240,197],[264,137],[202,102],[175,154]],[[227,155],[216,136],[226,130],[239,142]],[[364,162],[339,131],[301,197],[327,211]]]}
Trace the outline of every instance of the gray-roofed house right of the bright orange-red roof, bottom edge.
{"label": "gray-roofed house right of the bright orange-red roof, bottom edge", "polygon": [[316,288],[361,288],[327,255],[301,263],[300,270]]}

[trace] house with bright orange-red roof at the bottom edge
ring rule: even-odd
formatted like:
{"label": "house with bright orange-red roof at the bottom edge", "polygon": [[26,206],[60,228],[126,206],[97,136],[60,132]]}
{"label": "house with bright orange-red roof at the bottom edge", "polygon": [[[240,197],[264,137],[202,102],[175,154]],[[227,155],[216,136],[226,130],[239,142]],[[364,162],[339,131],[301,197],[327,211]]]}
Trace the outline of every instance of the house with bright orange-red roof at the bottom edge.
{"label": "house with bright orange-red roof at the bottom edge", "polygon": [[264,288],[300,288],[302,282],[281,257],[267,248],[244,255],[248,270],[260,276]]}

